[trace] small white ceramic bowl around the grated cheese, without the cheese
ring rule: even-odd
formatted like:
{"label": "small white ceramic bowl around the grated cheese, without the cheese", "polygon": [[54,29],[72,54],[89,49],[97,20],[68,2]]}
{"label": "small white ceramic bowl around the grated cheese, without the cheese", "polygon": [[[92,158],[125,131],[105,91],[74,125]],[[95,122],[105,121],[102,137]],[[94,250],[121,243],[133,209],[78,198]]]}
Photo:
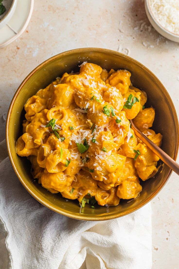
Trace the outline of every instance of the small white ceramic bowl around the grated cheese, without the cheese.
{"label": "small white ceramic bowl around the grated cheese, without the cheese", "polygon": [[150,4],[149,4],[149,0],[145,0],[145,12],[147,14],[147,17],[149,19],[149,22],[152,24],[152,26],[155,28],[155,30],[161,34],[162,36],[166,37],[167,39],[170,39],[172,41],[175,42],[179,42],[179,35],[178,34],[174,34],[170,31],[168,31],[166,28],[164,28],[162,25],[160,25],[158,23],[158,21],[156,20],[156,18],[154,17]]}

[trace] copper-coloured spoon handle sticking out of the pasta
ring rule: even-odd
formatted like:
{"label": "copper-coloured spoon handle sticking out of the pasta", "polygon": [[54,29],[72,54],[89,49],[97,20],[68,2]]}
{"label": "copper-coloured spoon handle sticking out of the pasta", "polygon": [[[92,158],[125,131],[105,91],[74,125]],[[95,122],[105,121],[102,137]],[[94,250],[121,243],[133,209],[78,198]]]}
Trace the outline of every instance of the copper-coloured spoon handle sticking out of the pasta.
{"label": "copper-coloured spoon handle sticking out of the pasta", "polygon": [[168,154],[166,154],[161,148],[159,148],[154,142],[145,136],[138,128],[134,125],[133,121],[130,120],[132,129],[138,138],[144,142],[144,144],[150,148],[166,165],[168,165],[177,175],[179,175],[179,164],[174,161]]}

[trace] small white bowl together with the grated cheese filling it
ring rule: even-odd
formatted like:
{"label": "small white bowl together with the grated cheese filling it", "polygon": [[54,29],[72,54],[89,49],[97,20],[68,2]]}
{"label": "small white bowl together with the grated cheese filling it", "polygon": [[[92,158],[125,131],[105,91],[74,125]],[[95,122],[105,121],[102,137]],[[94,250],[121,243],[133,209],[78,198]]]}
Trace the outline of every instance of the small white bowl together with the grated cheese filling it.
{"label": "small white bowl together with the grated cheese filling it", "polygon": [[162,36],[179,42],[179,1],[145,0],[149,22]]}

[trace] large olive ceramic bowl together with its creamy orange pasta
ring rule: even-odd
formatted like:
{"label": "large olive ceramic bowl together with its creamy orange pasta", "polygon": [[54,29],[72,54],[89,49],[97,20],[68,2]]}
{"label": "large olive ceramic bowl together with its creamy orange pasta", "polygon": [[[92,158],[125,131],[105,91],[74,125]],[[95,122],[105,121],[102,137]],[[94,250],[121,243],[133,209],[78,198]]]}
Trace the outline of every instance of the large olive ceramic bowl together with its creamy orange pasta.
{"label": "large olive ceramic bowl together with its creamy orange pasta", "polygon": [[[89,63],[95,64],[94,66],[92,65],[92,67],[95,70],[97,69],[95,76],[98,76],[98,79],[97,77],[94,78],[95,76],[92,76],[92,74],[89,75],[86,72],[82,73],[85,65],[83,64],[81,66],[81,70],[79,65],[83,62],[87,62],[88,65]],[[100,66],[102,71],[99,76],[98,73],[101,70]],[[108,72],[104,69],[108,70]],[[111,69],[113,70],[110,72]],[[116,70],[116,72],[114,70]],[[117,72],[117,70],[120,71]],[[128,70],[128,72],[126,70]],[[91,70],[90,73],[93,73],[92,71],[94,70]],[[88,77],[86,77],[85,74]],[[122,80],[118,80],[118,76],[120,75],[123,75]],[[93,77],[93,80],[90,79],[90,77]],[[94,94],[90,94],[93,93],[93,91],[89,92],[90,85],[87,86],[83,84],[83,82],[87,80],[89,80],[90,85],[93,84],[92,87],[95,89]],[[84,94],[85,92],[87,94],[84,95],[84,100],[78,98],[76,91],[79,89],[78,85],[81,84],[83,86],[81,93]],[[94,85],[96,85],[96,87],[94,87]],[[101,89],[101,85],[107,87]],[[59,91],[57,91],[58,87]],[[116,91],[118,92],[119,90],[120,92],[115,98],[111,94],[112,87],[115,87],[117,89]],[[107,88],[109,90],[107,90]],[[57,90],[55,91],[55,89]],[[132,99],[130,94],[133,96]],[[63,99],[61,99],[62,96]],[[88,96],[88,101],[85,100],[85,96]],[[82,100],[80,101],[80,99]],[[136,101],[135,103],[134,100]],[[146,100],[147,102],[144,104]],[[89,102],[87,108],[87,103],[85,105],[81,103],[86,101]],[[103,101],[105,103],[103,103]],[[70,102],[70,104],[68,102]],[[93,103],[96,113],[90,115],[90,112],[93,112]],[[131,109],[123,108],[124,105],[129,107],[129,103],[133,103]],[[116,108],[118,104],[119,107]],[[26,111],[24,110],[24,105]],[[106,105],[107,107],[105,107]],[[145,108],[142,107],[143,105]],[[113,112],[111,111],[111,107]],[[92,109],[90,110],[90,108]],[[56,109],[58,109],[58,111],[56,111]],[[78,111],[78,109],[80,111]],[[98,115],[97,110],[99,110],[100,115]],[[103,111],[107,114],[103,113]],[[129,111],[129,113],[127,113],[127,111]],[[79,114],[77,115],[77,113]],[[112,115],[112,113],[115,115]],[[25,114],[27,114],[26,120]],[[123,115],[125,115],[125,117]],[[133,121],[136,121],[135,124],[138,124],[138,128],[140,127],[155,143],[160,143],[160,139],[162,138],[160,136],[161,133],[163,136],[161,144],[162,150],[176,160],[178,152],[178,119],[176,110],[165,87],[149,69],[129,56],[109,49],[81,48],[55,55],[37,66],[24,79],[14,94],[10,104],[6,121],[6,143],[12,167],[24,188],[37,201],[64,216],[78,220],[100,221],[111,220],[132,213],[151,201],[151,199],[159,193],[169,179],[171,169],[166,165],[162,165],[155,174],[156,169],[158,169],[162,162],[158,161],[156,166],[157,161],[154,156],[151,157],[150,160],[147,157],[148,151],[146,151],[145,146],[140,143],[139,140],[135,142],[137,138],[134,134],[133,137],[130,137],[129,131],[133,133],[129,126],[128,119],[130,116],[134,117]],[[107,123],[102,123],[104,117]],[[121,122],[118,122],[118,120],[116,122],[117,118],[121,120]],[[34,119],[36,119],[36,124],[33,126],[32,121]],[[25,122],[23,122],[24,120]],[[68,120],[70,120],[70,122],[72,121],[72,123],[69,123]],[[92,127],[90,121],[94,123],[92,129],[90,129]],[[101,122],[101,124],[98,122]],[[66,126],[66,129],[62,127],[62,124],[64,127]],[[103,126],[105,124],[107,125]],[[118,126],[119,124],[120,128]],[[85,126],[77,128],[80,125]],[[101,126],[104,127],[104,130]],[[108,129],[106,128],[107,126]],[[94,132],[91,134],[93,129]],[[119,129],[123,131],[123,136]],[[155,130],[155,132],[153,130]],[[59,137],[61,137],[61,141],[59,141],[59,138],[56,136],[56,132],[59,134]],[[86,140],[77,140],[79,136],[81,138],[83,137],[82,133],[84,133]],[[102,140],[104,133],[108,142],[111,140],[109,143]],[[96,135],[96,137],[93,137],[94,135]],[[116,137],[117,139],[115,139]],[[96,139],[96,141],[93,140],[92,142],[91,138]],[[91,141],[89,141],[90,139]],[[17,140],[19,144],[17,149],[18,153],[20,153],[20,155],[23,153],[23,155],[27,157],[21,157],[16,153]],[[127,140],[129,143],[127,143]],[[70,141],[72,145],[70,145]],[[99,145],[94,142],[99,143]],[[83,149],[86,149],[88,146],[89,148],[83,153],[80,153],[76,143],[79,143],[79,145],[82,144],[80,147]],[[95,147],[99,147],[99,150],[103,148],[104,151],[101,150],[101,152],[98,152],[95,150]],[[105,152],[104,147],[107,152]],[[62,157],[61,148],[63,152]],[[137,157],[136,152],[133,150],[139,150],[140,155]],[[97,155],[105,156],[105,158],[103,160],[100,158],[96,159],[97,155],[95,152]],[[89,157],[86,156],[87,154],[89,154]],[[90,154],[92,156],[91,159]],[[111,156],[111,166],[108,163],[108,167],[105,169],[105,163],[109,157],[108,154]],[[48,159],[49,155],[51,156]],[[120,155],[123,156],[121,157],[123,160],[126,158],[123,170],[118,166],[118,164],[120,164],[122,167],[122,160],[119,158],[115,159],[116,156],[120,157]],[[135,156],[136,160],[134,160]],[[54,157],[54,159],[52,157]],[[40,165],[37,162],[37,158]],[[79,167],[79,164],[83,164],[82,159],[84,159],[84,165]],[[66,162],[68,166],[65,166]],[[96,163],[97,165],[95,166],[94,164]],[[48,172],[46,164],[49,171],[53,171],[53,173]],[[112,170],[114,169],[113,164],[116,167],[116,172],[120,169],[122,170],[118,175],[118,182],[115,177],[116,173]],[[34,169],[32,169],[31,166],[34,167]],[[99,180],[101,179],[101,171],[97,169],[97,167],[99,167],[99,169],[101,167],[101,171],[105,174],[103,174],[103,180]],[[89,169],[94,169],[94,172],[90,172]],[[152,171],[155,174],[153,177]],[[72,175],[73,173],[74,175]],[[138,173],[140,173],[140,175]],[[37,179],[34,179],[32,174]],[[64,177],[62,177],[62,175],[64,175]],[[83,185],[84,175],[86,177],[85,185]],[[42,176],[45,188],[42,187],[41,183],[38,184]],[[94,176],[97,176],[97,178],[94,179]],[[145,180],[146,178],[149,179]],[[142,187],[141,192],[139,182]],[[118,183],[119,185],[117,185]],[[118,190],[119,186],[120,190]],[[126,192],[126,190],[131,189],[131,186],[133,186],[133,192]],[[104,187],[107,189],[103,189]],[[59,193],[52,193],[49,189],[51,189],[52,192]],[[136,189],[137,192],[135,192]],[[68,195],[66,196],[68,198],[63,198],[60,192],[64,197]],[[87,192],[86,195],[85,192]],[[71,194],[76,195],[76,199],[72,200],[69,198]],[[85,205],[85,207],[80,208],[79,201],[77,200],[78,197],[81,198],[81,200],[79,199],[81,206]],[[137,199],[127,199],[129,197],[137,197]],[[106,206],[98,205],[96,200],[99,200],[101,204],[105,203]],[[118,202],[119,204],[117,206],[110,206],[110,201],[112,204]]]}

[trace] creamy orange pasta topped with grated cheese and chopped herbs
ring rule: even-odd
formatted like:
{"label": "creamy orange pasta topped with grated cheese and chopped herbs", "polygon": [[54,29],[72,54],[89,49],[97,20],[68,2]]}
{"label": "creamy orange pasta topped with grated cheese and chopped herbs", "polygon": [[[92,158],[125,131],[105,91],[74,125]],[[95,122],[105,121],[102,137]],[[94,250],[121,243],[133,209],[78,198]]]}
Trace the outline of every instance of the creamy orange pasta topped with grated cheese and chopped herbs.
{"label": "creamy orange pasta topped with grated cheese and chopped herbs", "polygon": [[162,134],[150,129],[155,109],[145,108],[147,94],[132,86],[128,70],[79,67],[28,99],[16,152],[28,157],[34,179],[49,192],[78,199],[81,207],[116,206],[136,199],[140,180],[159,169],[129,119],[158,146]]}

